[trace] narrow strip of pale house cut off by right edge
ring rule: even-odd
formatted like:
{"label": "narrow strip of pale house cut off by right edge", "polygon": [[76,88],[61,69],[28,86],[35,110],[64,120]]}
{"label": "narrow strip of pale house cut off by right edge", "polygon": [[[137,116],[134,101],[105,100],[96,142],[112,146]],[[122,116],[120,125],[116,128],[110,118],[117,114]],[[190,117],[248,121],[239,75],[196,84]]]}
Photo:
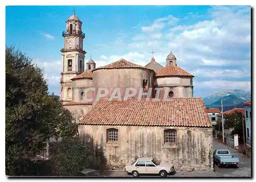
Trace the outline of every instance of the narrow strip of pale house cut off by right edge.
{"label": "narrow strip of pale house cut off by right edge", "polygon": [[251,101],[244,102],[246,143],[251,144]]}

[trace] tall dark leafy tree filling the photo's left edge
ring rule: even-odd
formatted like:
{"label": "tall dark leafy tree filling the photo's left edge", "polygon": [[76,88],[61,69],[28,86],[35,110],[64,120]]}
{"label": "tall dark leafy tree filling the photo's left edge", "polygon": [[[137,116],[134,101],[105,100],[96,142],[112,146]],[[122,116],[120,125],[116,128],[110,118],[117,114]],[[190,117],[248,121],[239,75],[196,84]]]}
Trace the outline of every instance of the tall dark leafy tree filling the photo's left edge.
{"label": "tall dark leafy tree filling the photo's left edge", "polygon": [[[71,118],[61,102],[48,95],[42,69],[14,47],[7,47],[6,175],[35,175],[33,159],[40,153],[42,142],[50,137],[61,137],[62,143],[77,138],[77,125]],[[76,157],[72,155],[71,159]]]}

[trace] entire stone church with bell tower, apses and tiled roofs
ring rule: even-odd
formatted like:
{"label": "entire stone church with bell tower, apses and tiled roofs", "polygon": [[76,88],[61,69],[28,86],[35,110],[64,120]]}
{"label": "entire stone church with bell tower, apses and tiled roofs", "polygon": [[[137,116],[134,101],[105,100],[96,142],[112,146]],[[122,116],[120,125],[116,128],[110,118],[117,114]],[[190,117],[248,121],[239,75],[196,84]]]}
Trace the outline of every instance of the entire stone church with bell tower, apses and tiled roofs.
{"label": "entire stone church with bell tower, apses and tiled roofs", "polygon": [[[165,66],[153,57],[145,66],[120,59],[96,67],[92,58],[84,64],[85,35],[75,13],[62,36],[60,100],[76,119],[81,142],[94,151],[95,167],[123,169],[137,158],[152,157],[159,163],[172,162],[177,171],[213,171],[212,126],[204,102],[193,96],[194,76],[178,66],[172,52]],[[85,96],[96,96],[85,92],[91,87],[120,88],[122,100],[108,100],[109,93],[85,101]],[[126,88],[153,88],[152,99],[138,101],[136,94],[124,100]],[[162,89],[158,95],[155,88]],[[165,91],[168,101],[161,99]]]}

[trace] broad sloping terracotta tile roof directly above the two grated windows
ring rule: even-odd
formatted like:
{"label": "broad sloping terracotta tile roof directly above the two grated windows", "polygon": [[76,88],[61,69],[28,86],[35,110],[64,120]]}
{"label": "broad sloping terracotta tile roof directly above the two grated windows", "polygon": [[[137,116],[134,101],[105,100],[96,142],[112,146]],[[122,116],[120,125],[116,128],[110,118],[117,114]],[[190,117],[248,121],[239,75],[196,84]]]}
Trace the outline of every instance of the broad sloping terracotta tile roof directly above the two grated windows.
{"label": "broad sloping terracotta tile roof directly above the two grated windows", "polygon": [[78,124],[211,127],[202,98],[100,99]]}

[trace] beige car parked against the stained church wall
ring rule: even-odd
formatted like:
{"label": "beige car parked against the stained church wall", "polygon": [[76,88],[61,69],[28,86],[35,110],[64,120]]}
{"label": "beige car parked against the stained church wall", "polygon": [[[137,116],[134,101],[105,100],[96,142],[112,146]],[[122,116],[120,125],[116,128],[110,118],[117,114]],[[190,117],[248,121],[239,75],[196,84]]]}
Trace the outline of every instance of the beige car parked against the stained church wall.
{"label": "beige car parked against the stained church wall", "polygon": [[140,174],[159,174],[161,177],[165,177],[174,171],[174,166],[172,163],[156,165],[153,158],[139,158],[132,164],[126,165],[125,171],[132,173],[135,177]]}

